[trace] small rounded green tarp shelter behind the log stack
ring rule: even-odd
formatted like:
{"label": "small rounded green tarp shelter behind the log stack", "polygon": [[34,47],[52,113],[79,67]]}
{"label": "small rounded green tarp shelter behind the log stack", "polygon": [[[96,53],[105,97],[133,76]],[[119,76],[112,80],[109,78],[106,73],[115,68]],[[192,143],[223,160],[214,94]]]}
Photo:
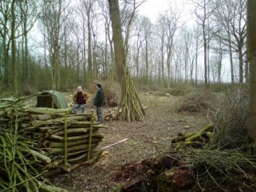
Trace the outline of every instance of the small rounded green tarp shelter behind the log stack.
{"label": "small rounded green tarp shelter behind the log stack", "polygon": [[68,104],[59,91],[43,91],[37,96],[36,108],[66,109]]}

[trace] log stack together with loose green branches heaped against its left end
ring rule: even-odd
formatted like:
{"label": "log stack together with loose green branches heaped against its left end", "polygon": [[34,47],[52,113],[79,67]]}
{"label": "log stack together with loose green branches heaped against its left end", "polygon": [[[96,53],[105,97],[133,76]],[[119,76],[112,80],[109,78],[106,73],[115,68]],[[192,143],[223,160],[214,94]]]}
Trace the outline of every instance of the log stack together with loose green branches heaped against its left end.
{"label": "log stack together with loose green branches heaped against its left end", "polygon": [[[70,109],[31,108],[16,100],[0,101],[0,138],[1,143],[6,143],[0,145],[0,168],[11,172],[0,177],[0,180],[6,181],[6,188],[3,189],[8,189],[8,182],[14,183],[10,175],[16,174],[13,173],[15,169],[6,164],[16,158],[13,156],[17,152],[10,155],[13,143],[20,144],[15,150],[20,150],[19,155],[24,156],[22,158],[29,165],[22,170],[32,170],[30,175],[24,175],[24,172],[19,175],[22,184],[27,184],[24,181],[30,181],[29,177],[50,177],[59,172],[69,172],[92,160],[92,152],[103,138],[99,128],[106,126],[94,122],[93,111],[79,115],[69,115],[69,112]],[[20,156],[17,157],[17,162],[21,163],[18,168],[24,166]],[[38,186],[39,182],[42,180],[34,183]]]}

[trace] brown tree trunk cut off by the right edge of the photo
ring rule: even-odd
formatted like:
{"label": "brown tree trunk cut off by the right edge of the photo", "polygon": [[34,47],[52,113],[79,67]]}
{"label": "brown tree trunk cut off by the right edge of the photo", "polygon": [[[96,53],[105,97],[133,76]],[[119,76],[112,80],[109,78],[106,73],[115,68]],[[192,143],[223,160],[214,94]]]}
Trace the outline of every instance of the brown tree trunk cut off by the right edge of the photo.
{"label": "brown tree trunk cut off by the right edge of the photo", "polygon": [[250,65],[248,101],[248,147],[256,155],[256,1],[247,1],[247,50]]}

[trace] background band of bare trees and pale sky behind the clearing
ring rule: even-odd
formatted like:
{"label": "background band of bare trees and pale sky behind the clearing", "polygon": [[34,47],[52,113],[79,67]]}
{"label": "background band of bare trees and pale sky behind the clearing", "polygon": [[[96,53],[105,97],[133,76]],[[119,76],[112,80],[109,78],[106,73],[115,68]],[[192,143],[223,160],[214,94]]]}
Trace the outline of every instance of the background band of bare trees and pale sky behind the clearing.
{"label": "background band of bare trees and pale sky behind the clearing", "polygon": [[[192,26],[174,4],[152,22],[139,15],[142,3],[120,1],[135,83],[203,82],[207,88],[248,80],[246,0],[187,0]],[[108,1],[0,1],[1,91],[73,89],[94,79],[118,80]]]}

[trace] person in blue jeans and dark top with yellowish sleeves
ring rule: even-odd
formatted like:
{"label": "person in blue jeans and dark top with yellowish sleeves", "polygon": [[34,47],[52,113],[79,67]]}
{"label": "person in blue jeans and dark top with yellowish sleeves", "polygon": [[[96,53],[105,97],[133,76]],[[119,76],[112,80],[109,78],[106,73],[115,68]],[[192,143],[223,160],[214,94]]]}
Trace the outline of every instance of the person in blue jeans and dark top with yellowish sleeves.
{"label": "person in blue jeans and dark top with yellowish sleeves", "polygon": [[73,114],[76,114],[77,110],[81,108],[82,112],[85,112],[85,104],[89,94],[82,90],[81,86],[78,86],[77,91],[73,94],[73,102],[75,106],[73,107]]}

